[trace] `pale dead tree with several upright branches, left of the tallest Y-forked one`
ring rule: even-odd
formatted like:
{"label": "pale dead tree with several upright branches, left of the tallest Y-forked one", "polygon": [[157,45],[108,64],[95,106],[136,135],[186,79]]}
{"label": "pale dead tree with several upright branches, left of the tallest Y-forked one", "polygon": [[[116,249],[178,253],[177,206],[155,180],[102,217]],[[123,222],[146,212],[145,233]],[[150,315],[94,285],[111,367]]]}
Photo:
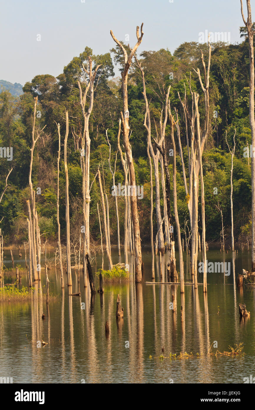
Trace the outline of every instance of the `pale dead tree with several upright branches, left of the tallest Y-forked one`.
{"label": "pale dead tree with several upright branches, left of the tallest Y-forked one", "polygon": [[[89,254],[89,210],[90,210],[90,137],[89,137],[89,118],[93,109],[94,102],[94,82],[97,74],[97,70],[100,65],[97,65],[94,71],[92,71],[92,59],[88,56],[87,68],[82,64],[84,71],[84,82],[86,84],[86,89],[84,93],[81,89],[81,84],[78,81],[79,95],[80,95],[80,105],[84,120],[83,133],[81,138],[81,168],[82,168],[82,198],[83,198],[83,271],[86,272],[86,254]],[[87,78],[85,76],[87,75]],[[89,105],[86,110],[86,99],[89,92]]]}

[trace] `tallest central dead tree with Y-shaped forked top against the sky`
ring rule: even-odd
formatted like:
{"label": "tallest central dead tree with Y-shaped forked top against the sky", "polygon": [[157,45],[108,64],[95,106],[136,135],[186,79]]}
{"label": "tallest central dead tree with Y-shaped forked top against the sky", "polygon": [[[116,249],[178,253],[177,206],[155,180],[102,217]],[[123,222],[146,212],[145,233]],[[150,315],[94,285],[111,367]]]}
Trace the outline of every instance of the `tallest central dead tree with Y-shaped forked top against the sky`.
{"label": "tallest central dead tree with Y-shaped forked top against the sky", "polygon": [[[123,144],[126,151],[127,162],[129,166],[129,174],[130,174],[130,182],[131,186],[136,187],[135,183],[135,167],[133,164],[133,156],[131,151],[131,146],[129,144],[129,107],[128,107],[128,92],[127,92],[127,80],[128,80],[128,72],[129,67],[131,65],[131,61],[133,55],[135,54],[138,46],[140,46],[142,42],[142,31],[143,23],[141,25],[141,35],[139,35],[139,27],[136,27],[136,36],[137,36],[137,43],[130,51],[129,56],[125,48],[123,47],[122,43],[116,39],[112,30],[111,36],[115,43],[120,47],[122,53],[124,55],[124,70],[122,71],[122,96],[123,96],[123,113],[121,112],[121,119],[122,119],[122,128],[123,128]],[[135,282],[142,282],[142,250],[141,250],[141,239],[140,239],[140,226],[139,226],[139,219],[138,219],[138,210],[137,210],[137,198],[136,195],[131,195],[131,215],[133,221],[133,230],[134,230],[134,240],[135,240]]]}

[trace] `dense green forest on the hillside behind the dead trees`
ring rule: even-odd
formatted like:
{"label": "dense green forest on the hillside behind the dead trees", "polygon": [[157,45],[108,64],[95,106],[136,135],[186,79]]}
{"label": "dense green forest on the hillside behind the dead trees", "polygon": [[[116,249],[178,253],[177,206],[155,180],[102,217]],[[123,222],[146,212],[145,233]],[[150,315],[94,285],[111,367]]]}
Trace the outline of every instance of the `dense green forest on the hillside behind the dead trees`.
{"label": "dense green forest on the hillside behind the dead trees", "polygon": [[[231,153],[233,158],[233,219],[235,241],[251,241],[251,158],[244,155],[244,148],[250,150],[251,132],[249,124],[249,50],[246,27],[240,27],[242,42],[240,44],[212,43],[210,66],[210,123],[208,137],[203,150],[203,181],[205,191],[205,226],[206,241],[222,241],[223,216],[225,243],[231,243],[230,214],[230,172]],[[127,43],[122,42],[129,51]],[[185,118],[181,102],[187,93],[191,99],[192,91],[200,94],[200,122],[203,123],[204,96],[199,78],[194,70],[203,73],[201,50],[204,61],[208,64],[208,45],[196,42],[183,43],[171,54],[169,50],[143,51],[137,60],[133,59],[128,78],[128,102],[130,144],[135,166],[136,184],[143,187],[143,196],[137,200],[140,236],[142,245],[150,243],[150,166],[147,155],[147,131],[144,127],[146,104],[144,102],[143,83],[139,64],[144,72],[147,99],[150,107],[151,137],[157,140],[160,129],[162,111],[169,91],[171,109],[178,112],[183,161],[188,175],[188,153],[186,146]],[[61,239],[65,242],[65,169],[63,163],[63,141],[65,137],[65,110],[69,114],[69,136],[67,141],[67,163],[69,175],[70,197],[70,237],[71,243],[79,241],[82,213],[82,166],[81,134],[83,117],[80,106],[80,82],[82,93],[86,90],[86,66],[89,56],[95,71],[93,110],[89,120],[90,146],[90,183],[93,182],[100,164],[104,192],[109,200],[109,220],[111,243],[117,244],[117,219],[115,196],[113,193],[113,177],[109,168],[109,144],[111,144],[111,169],[115,173],[115,185],[123,184],[124,173],[120,154],[117,151],[117,134],[120,112],[123,110],[121,77],[115,76],[114,68],[124,69],[124,58],[120,48],[115,47],[104,55],[93,55],[93,50],[86,47],[79,57],[63,68],[58,77],[49,74],[36,75],[31,82],[26,82],[23,94],[19,97],[11,95],[7,90],[0,93],[0,147],[12,147],[13,158],[8,160],[1,151],[0,192],[5,188],[5,178],[9,175],[8,189],[0,203],[1,228],[5,244],[21,244],[27,241],[27,199],[29,198],[29,164],[32,146],[32,127],[34,116],[34,97],[38,97],[36,106],[36,130],[38,141],[34,149],[32,182],[36,190],[36,210],[41,231],[41,240],[53,243],[57,241],[56,221],[56,184],[59,136],[57,124],[60,124],[61,157],[59,172],[59,219]],[[201,74],[202,75],[202,74]],[[87,101],[89,105],[90,101]],[[45,127],[45,128],[44,128]],[[106,134],[107,132],[107,134]],[[108,141],[107,141],[108,137]],[[190,137],[190,136],[188,136]],[[178,147],[176,132],[176,189],[178,216],[181,235],[189,237],[190,215],[187,207],[188,199],[183,180],[183,168]],[[122,135],[120,136],[122,145]],[[170,137],[170,123],[167,119],[165,128],[165,144],[167,154],[173,148]],[[153,148],[156,145],[152,141]],[[10,158],[9,158],[10,159]],[[172,187],[172,157],[168,155],[169,173]],[[153,162],[151,162],[153,167]],[[163,218],[164,199],[162,180],[160,180],[160,209]],[[155,184],[155,175],[153,184]],[[164,182],[163,182],[164,184]],[[199,187],[200,189],[200,187]],[[153,189],[155,194],[155,190]],[[172,195],[172,193],[171,193]],[[100,230],[97,213],[100,204],[100,191],[97,178],[90,191],[90,242],[99,244]],[[155,198],[153,198],[153,237],[157,234]],[[173,203],[171,203],[173,209]],[[100,208],[101,209],[101,208]],[[118,197],[120,214],[120,241],[124,238],[124,196]],[[101,212],[101,210],[100,210]],[[174,211],[173,211],[174,212]],[[199,194],[199,231],[202,228],[201,196]],[[174,225],[174,221],[172,222]],[[163,224],[163,231],[165,230]],[[174,230],[176,232],[176,230]]]}

